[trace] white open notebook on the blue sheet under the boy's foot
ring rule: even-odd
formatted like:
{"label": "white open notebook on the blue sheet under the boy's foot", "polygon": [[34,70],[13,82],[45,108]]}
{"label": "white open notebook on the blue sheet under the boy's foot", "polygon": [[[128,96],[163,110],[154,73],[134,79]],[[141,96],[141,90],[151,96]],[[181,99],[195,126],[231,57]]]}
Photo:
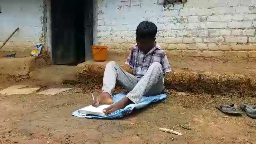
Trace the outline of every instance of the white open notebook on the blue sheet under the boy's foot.
{"label": "white open notebook on the blue sheet under the boy's foot", "polygon": [[80,114],[84,114],[84,115],[92,114],[92,115],[96,115],[96,116],[104,116],[105,114],[102,111],[103,111],[104,108],[107,108],[109,106],[111,106],[111,104],[101,104],[97,107],[93,107],[92,105],[90,105],[90,106],[86,106],[84,108],[81,108],[80,110],[78,110],[78,112]]}

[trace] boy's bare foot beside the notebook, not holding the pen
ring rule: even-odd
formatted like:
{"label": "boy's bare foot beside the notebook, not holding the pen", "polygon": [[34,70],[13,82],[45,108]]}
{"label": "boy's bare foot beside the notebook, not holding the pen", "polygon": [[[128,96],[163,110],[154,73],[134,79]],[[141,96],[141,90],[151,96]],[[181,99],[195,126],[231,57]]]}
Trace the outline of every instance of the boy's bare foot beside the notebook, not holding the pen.
{"label": "boy's bare foot beside the notebook, not holding the pen", "polygon": [[103,110],[103,112],[105,114],[111,114],[112,112],[115,112],[116,110],[125,108],[128,104],[131,104],[131,103],[132,103],[132,101],[129,98],[124,97],[124,98],[122,98],[122,100],[116,102],[115,104],[109,106],[108,108],[105,108]]}

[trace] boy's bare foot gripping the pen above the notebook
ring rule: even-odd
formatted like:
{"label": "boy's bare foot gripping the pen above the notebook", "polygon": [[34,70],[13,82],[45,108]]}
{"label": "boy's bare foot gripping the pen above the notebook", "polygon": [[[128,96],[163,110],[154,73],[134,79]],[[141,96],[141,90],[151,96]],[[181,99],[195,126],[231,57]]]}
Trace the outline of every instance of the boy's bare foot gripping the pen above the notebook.
{"label": "boy's bare foot gripping the pen above the notebook", "polygon": [[113,100],[107,92],[102,92],[99,96],[95,98],[95,102],[92,103],[92,106],[96,107],[99,104],[113,104]]}

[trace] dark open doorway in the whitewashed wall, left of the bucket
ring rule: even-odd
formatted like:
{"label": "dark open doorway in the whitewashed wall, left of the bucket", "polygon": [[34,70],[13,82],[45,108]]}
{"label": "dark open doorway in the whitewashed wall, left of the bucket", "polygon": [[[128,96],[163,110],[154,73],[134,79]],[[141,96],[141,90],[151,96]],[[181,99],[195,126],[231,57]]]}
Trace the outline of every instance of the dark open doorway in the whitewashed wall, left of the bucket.
{"label": "dark open doorway in the whitewashed wall, left of the bucket", "polygon": [[93,14],[92,6],[87,6],[88,1],[93,0],[51,1],[54,64],[78,64],[85,61],[88,55],[86,48],[92,45],[92,25],[86,24],[86,21],[93,24],[92,16],[91,19],[86,18],[88,13]]}

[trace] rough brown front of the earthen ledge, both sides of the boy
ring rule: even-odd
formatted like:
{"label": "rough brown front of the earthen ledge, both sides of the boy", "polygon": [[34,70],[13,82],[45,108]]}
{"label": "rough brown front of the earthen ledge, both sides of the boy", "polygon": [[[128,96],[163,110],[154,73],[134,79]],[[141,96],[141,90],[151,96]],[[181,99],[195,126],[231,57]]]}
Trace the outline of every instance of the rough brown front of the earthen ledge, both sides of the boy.
{"label": "rough brown front of the earthen ledge, both sides of the boy", "polygon": [[[101,86],[107,62],[85,62],[77,66],[77,79],[80,82]],[[131,73],[125,64],[124,70]],[[165,86],[178,91],[209,94],[240,94],[256,96],[256,79],[249,74],[202,72],[176,69],[165,76]]]}

